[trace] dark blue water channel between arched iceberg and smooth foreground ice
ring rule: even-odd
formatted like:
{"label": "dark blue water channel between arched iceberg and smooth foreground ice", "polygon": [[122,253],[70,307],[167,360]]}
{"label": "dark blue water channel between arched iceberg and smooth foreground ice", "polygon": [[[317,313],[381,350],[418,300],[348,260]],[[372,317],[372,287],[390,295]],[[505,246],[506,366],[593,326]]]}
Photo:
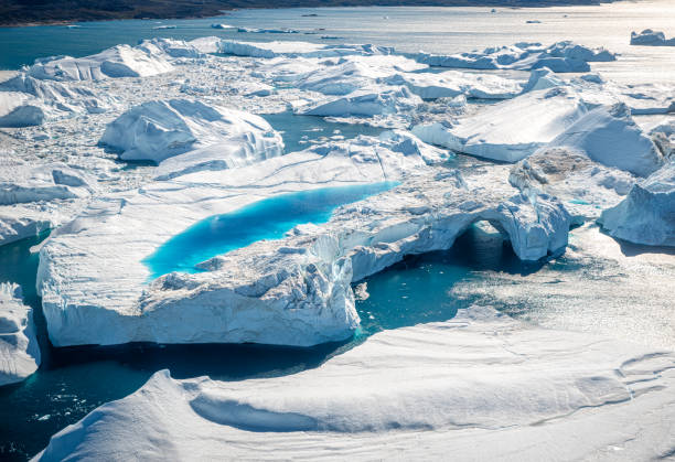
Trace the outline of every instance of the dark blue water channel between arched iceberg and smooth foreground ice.
{"label": "dark blue water channel between arched iceberg and smooth foreground ice", "polygon": [[471,228],[449,251],[406,258],[366,279],[369,298],[356,303],[362,331],[343,343],[312,348],[224,344],[54,348],[33,289],[38,258],[29,248],[39,240],[0,247],[0,281],[22,284],[26,301],[36,310],[43,355],[42,366],[28,380],[0,388],[0,460],[26,460],[52,434],[95,407],[133,393],[157,370],[169,368],[176,378],[208,375],[222,380],[293,374],[321,365],[383,329],[451,319],[474,301],[451,297],[453,284],[483,281],[495,270],[526,276],[540,267],[522,264],[499,235]]}

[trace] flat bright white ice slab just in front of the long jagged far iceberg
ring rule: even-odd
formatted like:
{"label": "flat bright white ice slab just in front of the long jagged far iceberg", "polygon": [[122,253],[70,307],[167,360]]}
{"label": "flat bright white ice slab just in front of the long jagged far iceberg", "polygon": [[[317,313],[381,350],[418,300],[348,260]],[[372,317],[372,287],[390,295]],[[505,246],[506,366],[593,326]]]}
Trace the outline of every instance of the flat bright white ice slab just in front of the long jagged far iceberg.
{"label": "flat bright white ice slab just in front of the long jagged far iceberg", "polygon": [[490,74],[471,74],[457,71],[443,73],[405,73],[396,74],[385,82],[389,85],[406,85],[410,92],[425,99],[456,97],[506,99],[513,98],[523,90],[522,85]]}

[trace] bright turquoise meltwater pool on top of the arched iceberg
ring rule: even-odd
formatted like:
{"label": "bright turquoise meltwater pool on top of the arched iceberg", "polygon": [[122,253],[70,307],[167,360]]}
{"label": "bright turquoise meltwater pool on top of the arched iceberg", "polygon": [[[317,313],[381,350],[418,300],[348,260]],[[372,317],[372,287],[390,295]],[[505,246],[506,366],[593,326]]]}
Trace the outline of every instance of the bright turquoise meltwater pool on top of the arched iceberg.
{"label": "bright turquoise meltwater pool on top of the arched iceberg", "polygon": [[261,239],[279,239],[296,225],[325,223],[335,207],[382,193],[398,182],[322,187],[265,198],[214,215],[175,235],[143,260],[151,278],[199,272],[195,265]]}

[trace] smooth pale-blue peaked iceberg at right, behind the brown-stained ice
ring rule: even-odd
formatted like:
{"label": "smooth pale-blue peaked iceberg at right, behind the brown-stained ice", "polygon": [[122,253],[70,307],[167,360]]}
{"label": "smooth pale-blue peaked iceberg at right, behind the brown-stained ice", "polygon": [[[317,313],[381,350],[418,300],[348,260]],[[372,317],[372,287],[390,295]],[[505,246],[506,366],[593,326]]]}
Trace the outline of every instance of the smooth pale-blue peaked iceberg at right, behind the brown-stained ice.
{"label": "smooth pale-blue peaked iceberg at right, behind the brown-stained ice", "polygon": [[633,121],[624,104],[603,106],[583,115],[550,142],[569,147],[590,159],[639,176],[663,165],[663,157],[646,133]]}

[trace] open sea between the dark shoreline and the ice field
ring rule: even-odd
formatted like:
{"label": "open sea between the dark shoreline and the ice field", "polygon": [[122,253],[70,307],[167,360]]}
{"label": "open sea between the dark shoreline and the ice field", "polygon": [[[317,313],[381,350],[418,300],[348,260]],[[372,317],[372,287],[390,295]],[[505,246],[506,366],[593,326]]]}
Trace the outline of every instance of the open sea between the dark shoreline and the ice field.
{"label": "open sea between the dark shoreline and the ice field", "polygon": [[[622,54],[613,63],[594,63],[594,71],[625,83],[675,82],[675,53],[668,47],[630,46],[631,31],[662,30],[675,36],[675,2],[646,0],[592,7],[556,8],[363,7],[325,9],[238,10],[221,18],[193,20],[128,20],[65,25],[0,29],[0,69],[15,69],[36,57],[84,56],[118,43],[160,37],[217,35],[244,41],[374,43],[404,53],[456,53],[516,42],[550,44],[560,40],[606,46]],[[318,17],[303,17],[315,13]],[[540,23],[526,23],[538,20]],[[299,33],[243,33],[212,29],[293,29]],[[175,25],[175,29],[154,29]],[[338,36],[324,40],[322,36]]]}

